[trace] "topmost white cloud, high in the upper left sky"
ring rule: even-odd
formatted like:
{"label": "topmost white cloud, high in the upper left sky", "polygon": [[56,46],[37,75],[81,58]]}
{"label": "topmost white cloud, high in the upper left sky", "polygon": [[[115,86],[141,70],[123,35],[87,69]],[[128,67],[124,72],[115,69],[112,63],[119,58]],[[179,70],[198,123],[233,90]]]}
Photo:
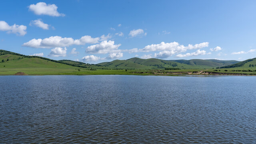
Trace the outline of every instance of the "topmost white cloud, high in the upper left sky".
{"label": "topmost white cloud, high in the upper left sky", "polygon": [[36,15],[48,15],[48,16],[65,16],[57,11],[55,4],[46,4],[45,2],[38,2],[37,4],[30,4],[29,10],[33,11]]}

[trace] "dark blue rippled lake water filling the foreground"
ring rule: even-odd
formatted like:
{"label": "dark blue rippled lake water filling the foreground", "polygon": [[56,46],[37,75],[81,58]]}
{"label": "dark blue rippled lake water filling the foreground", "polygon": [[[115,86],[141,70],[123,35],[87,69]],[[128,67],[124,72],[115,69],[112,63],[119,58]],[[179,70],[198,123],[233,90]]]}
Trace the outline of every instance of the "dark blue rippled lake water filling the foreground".
{"label": "dark blue rippled lake water filling the foreground", "polygon": [[256,143],[256,77],[0,76],[0,143]]}

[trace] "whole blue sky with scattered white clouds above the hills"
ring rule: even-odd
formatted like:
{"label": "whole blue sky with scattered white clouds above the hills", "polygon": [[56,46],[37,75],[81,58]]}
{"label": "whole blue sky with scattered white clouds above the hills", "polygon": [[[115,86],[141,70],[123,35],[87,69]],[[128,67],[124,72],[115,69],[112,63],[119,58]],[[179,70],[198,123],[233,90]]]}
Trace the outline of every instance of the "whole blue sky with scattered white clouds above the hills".
{"label": "whole blue sky with scattered white clouds above the hills", "polygon": [[256,57],[256,1],[0,1],[0,49],[90,64],[242,61]]}

